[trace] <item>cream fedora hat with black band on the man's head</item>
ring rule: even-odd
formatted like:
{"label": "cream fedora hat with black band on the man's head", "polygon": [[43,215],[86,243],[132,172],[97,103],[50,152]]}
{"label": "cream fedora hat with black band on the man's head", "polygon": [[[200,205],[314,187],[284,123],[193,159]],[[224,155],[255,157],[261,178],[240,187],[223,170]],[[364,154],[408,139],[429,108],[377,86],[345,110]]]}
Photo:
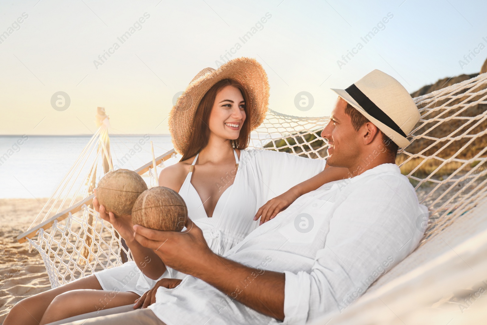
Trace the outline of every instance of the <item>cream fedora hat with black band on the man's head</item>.
{"label": "cream fedora hat with black band on the man's head", "polygon": [[420,114],[411,95],[392,76],[375,69],[347,89],[332,89],[399,146],[407,147],[408,134]]}

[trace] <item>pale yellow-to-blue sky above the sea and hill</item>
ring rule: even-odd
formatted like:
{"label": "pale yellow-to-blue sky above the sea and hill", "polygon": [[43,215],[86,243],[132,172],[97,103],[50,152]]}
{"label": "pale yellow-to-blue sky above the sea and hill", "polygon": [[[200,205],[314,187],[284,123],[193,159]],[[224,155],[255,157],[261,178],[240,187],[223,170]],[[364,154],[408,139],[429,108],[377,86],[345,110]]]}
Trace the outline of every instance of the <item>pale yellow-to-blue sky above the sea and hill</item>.
{"label": "pale yellow-to-blue sky above the sea and hill", "polygon": [[[112,133],[167,134],[173,96],[236,43],[233,57],[254,57],[267,71],[271,109],[328,115],[329,89],[374,69],[410,93],[479,72],[486,12],[480,0],[1,1],[0,134],[91,134],[97,106]],[[122,43],[125,32],[133,34]],[[344,61],[348,51],[356,54]],[[470,51],[478,54],[467,62]],[[71,100],[63,111],[51,105],[60,91]],[[295,106],[302,91],[314,98],[307,111]]]}

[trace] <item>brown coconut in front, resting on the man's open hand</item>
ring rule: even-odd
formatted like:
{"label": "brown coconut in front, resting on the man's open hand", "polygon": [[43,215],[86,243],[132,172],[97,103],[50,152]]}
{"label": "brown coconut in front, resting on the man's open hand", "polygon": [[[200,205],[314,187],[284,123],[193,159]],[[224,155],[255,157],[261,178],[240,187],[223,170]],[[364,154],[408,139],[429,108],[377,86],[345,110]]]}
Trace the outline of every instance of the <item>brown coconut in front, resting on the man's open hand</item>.
{"label": "brown coconut in front, resting on the man's open hand", "polygon": [[132,222],[146,228],[181,231],[187,218],[187,207],[181,195],[167,187],[144,191],[132,208]]}

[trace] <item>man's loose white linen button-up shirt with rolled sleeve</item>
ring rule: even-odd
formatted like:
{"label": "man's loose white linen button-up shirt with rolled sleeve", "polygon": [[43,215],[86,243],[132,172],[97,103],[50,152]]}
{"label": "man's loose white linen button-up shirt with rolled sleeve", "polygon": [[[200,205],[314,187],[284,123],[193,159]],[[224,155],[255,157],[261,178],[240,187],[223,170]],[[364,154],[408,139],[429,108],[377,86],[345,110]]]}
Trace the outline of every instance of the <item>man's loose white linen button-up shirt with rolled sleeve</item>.
{"label": "man's loose white linen button-up shirt with rolled sleeve", "polygon": [[343,310],[416,248],[428,210],[394,164],[327,183],[252,231],[225,257],[256,272],[226,295],[192,276],[159,287],[150,308],[166,324],[280,324],[231,299],[265,271],[285,273],[284,324]]}

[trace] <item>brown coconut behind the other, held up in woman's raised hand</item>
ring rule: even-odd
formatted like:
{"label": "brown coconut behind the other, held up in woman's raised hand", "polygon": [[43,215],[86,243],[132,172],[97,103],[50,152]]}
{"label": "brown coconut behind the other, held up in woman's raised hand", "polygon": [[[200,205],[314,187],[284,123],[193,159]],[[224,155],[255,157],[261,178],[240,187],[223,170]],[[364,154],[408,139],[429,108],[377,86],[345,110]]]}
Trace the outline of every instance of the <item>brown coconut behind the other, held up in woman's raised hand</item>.
{"label": "brown coconut behind the other, held up in woman's raised hand", "polygon": [[128,215],[139,195],[147,190],[146,182],[140,175],[128,169],[107,172],[98,182],[96,198],[106,211],[116,216]]}

